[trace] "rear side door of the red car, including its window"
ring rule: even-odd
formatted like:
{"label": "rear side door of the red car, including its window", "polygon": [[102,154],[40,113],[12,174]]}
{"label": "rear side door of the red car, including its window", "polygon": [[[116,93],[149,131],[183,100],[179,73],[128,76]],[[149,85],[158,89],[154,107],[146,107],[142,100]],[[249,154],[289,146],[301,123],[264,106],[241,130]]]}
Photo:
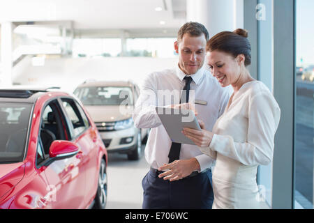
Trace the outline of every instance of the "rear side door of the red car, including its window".
{"label": "rear side door of the red car, including its window", "polygon": [[63,109],[68,114],[71,135],[75,144],[80,146],[80,154],[85,166],[85,202],[94,199],[98,185],[98,147],[97,132],[91,128],[82,107],[72,98],[61,98]]}

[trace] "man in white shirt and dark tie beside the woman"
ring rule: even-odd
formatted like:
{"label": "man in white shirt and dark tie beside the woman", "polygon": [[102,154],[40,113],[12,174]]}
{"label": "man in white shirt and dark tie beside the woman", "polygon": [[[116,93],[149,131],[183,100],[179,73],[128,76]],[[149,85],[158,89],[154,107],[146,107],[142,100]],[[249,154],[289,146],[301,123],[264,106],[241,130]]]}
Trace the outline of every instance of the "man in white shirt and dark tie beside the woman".
{"label": "man in white shirt and dark tie beside the woman", "polygon": [[[210,169],[214,160],[195,145],[172,143],[156,114],[156,106],[194,102],[193,96],[197,118],[205,129],[211,130],[223,114],[230,89],[221,88],[202,68],[207,40],[209,34],[202,24],[184,24],[174,43],[179,54],[177,68],[153,72],[144,80],[133,113],[137,128],[151,128],[145,148],[151,168],[142,180],[142,208],[211,208],[214,201]],[[176,98],[177,92],[180,101],[164,101],[169,94]]]}

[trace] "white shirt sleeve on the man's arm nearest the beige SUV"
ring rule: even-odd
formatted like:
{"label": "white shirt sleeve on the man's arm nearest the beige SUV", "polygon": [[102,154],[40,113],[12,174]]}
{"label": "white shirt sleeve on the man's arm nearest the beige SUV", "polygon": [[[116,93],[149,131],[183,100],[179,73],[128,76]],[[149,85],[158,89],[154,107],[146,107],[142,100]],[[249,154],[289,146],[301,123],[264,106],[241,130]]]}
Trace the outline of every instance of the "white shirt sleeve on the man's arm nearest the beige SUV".
{"label": "white shirt sleeve on the man's arm nearest the beige SUV", "polygon": [[156,112],[157,102],[157,89],[153,74],[151,74],[144,80],[140,97],[137,99],[133,111],[133,121],[136,128],[156,128],[161,125]]}

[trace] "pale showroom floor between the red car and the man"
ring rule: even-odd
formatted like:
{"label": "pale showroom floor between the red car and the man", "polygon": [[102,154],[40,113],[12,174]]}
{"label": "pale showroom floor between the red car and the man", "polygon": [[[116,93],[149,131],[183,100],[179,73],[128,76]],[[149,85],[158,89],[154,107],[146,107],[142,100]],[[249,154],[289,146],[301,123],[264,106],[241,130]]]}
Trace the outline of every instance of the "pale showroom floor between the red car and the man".
{"label": "pale showroom floor between the red car and the man", "polygon": [[[144,153],[144,146],[142,147]],[[108,196],[106,209],[142,208],[142,178],[149,171],[144,154],[137,161],[130,161],[125,154],[108,156]]]}

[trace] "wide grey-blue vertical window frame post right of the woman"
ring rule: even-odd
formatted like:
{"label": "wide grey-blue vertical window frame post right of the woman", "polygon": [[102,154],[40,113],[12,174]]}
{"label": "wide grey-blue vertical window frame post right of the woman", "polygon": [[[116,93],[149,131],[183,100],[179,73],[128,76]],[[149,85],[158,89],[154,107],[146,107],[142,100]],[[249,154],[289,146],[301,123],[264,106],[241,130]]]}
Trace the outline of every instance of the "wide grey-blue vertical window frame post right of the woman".
{"label": "wide grey-blue vertical window frame post right of the woman", "polygon": [[274,1],[274,97],[281,108],[275,136],[272,208],[294,208],[296,1]]}

